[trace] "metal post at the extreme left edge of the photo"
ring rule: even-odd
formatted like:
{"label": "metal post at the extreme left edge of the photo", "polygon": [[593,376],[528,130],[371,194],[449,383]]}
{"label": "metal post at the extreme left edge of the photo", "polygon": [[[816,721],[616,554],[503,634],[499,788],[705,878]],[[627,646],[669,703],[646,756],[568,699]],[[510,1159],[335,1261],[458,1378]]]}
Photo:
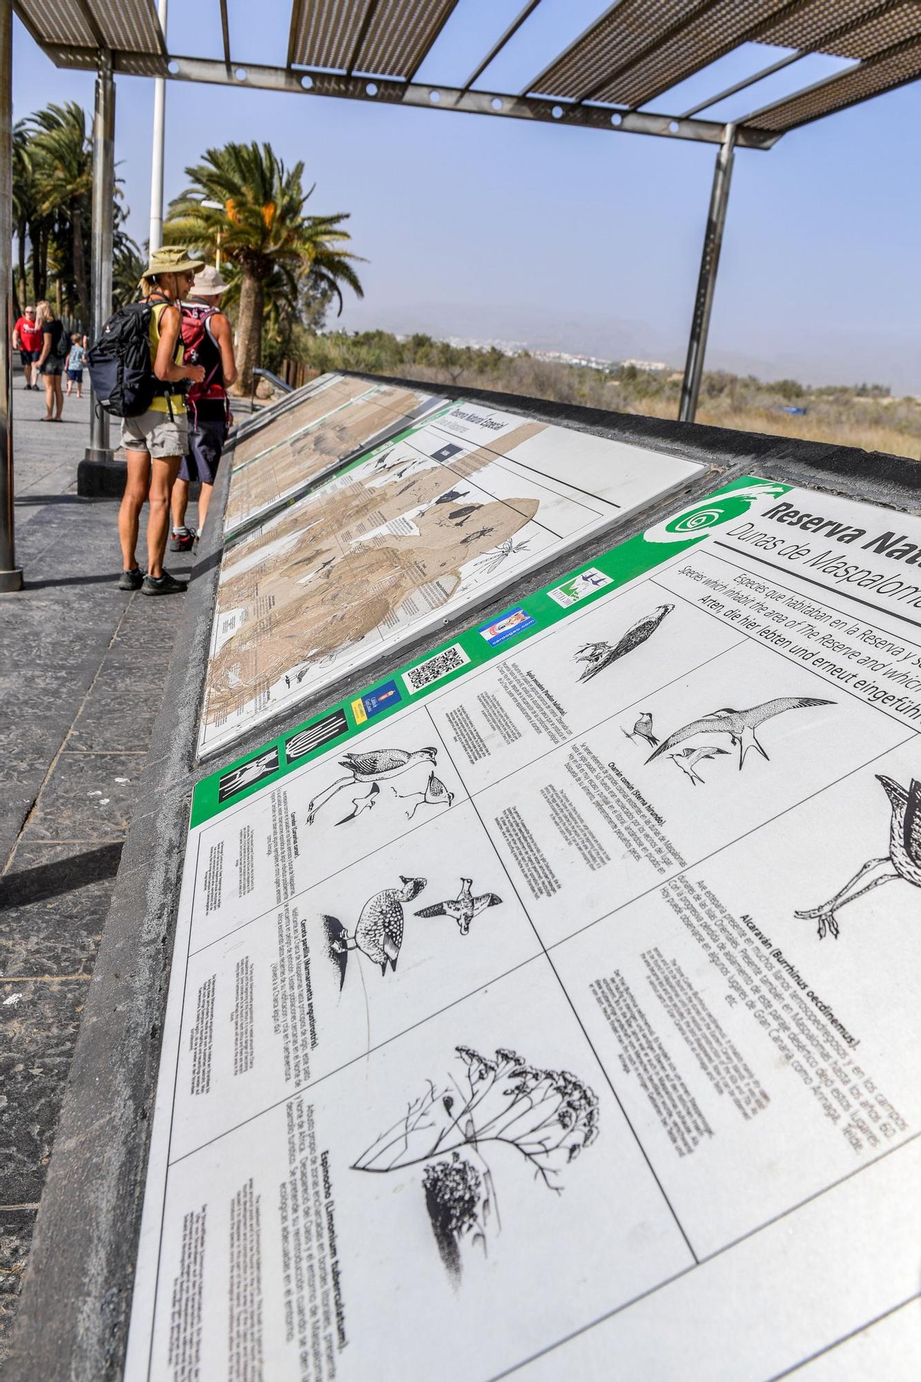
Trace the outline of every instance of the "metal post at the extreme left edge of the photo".
{"label": "metal post at the extreme left edge of the photo", "polygon": [[12,0],[0,0],[0,590],[22,590],[12,510]]}

